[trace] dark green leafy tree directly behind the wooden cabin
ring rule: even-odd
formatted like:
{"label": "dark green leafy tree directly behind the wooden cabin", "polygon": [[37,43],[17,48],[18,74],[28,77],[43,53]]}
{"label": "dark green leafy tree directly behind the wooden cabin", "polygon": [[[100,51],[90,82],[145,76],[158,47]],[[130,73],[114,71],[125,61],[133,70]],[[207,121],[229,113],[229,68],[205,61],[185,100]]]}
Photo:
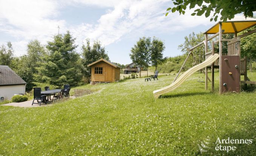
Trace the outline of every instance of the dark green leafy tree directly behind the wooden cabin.
{"label": "dark green leafy tree directly behind the wooden cabin", "polygon": [[89,65],[90,63],[93,63],[101,58],[104,58],[105,60],[109,60],[109,56],[107,55],[107,52],[104,47],[101,46],[101,43],[99,40],[96,40],[92,46],[90,46],[90,39],[86,39],[86,46],[82,45],[82,57],[83,57],[83,74],[85,77],[90,77],[91,71]]}

